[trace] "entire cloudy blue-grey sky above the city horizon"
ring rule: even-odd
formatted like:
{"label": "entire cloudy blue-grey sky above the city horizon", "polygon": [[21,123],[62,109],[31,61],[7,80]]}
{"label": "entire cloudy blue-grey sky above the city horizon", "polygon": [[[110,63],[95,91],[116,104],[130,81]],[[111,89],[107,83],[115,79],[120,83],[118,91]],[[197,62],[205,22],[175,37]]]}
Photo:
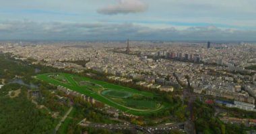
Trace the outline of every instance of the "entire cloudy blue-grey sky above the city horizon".
{"label": "entire cloudy blue-grey sky above the city horizon", "polygon": [[0,3],[0,40],[256,41],[255,0]]}

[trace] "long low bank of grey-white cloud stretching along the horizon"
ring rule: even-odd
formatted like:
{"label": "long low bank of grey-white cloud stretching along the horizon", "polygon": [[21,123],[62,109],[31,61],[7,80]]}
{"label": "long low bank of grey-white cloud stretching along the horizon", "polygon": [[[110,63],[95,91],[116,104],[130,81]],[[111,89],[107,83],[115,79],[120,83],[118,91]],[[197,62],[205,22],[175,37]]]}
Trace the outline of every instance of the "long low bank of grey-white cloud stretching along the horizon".
{"label": "long low bank of grey-white cloud stretching along the horizon", "polygon": [[[225,40],[255,41],[255,30],[206,27],[152,28],[134,23],[0,21],[0,40]],[[5,25],[8,25],[6,27]]]}

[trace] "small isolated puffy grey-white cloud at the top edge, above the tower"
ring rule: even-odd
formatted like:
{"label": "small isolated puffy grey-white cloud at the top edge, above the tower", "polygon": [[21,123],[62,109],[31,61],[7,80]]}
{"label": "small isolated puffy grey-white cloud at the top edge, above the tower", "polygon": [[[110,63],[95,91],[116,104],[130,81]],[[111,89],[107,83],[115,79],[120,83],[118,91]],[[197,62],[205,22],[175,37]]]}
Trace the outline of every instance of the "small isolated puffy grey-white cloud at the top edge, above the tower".
{"label": "small isolated puffy grey-white cloud at the top edge, above the tower", "polygon": [[146,11],[147,4],[141,0],[119,0],[116,5],[107,5],[98,9],[98,13],[105,15],[115,15],[119,13],[139,13]]}

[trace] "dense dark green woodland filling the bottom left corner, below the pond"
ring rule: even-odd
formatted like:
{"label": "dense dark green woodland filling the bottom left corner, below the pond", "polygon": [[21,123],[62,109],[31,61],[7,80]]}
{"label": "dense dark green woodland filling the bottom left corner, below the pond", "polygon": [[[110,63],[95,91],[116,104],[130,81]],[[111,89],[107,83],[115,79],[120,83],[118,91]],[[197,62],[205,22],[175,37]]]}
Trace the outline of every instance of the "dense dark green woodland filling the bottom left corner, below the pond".
{"label": "dense dark green woodland filling the bottom left corner, below the pond", "polygon": [[18,88],[21,93],[15,98],[0,94],[0,133],[53,133],[55,120],[28,100],[26,87],[8,84],[1,92]]}

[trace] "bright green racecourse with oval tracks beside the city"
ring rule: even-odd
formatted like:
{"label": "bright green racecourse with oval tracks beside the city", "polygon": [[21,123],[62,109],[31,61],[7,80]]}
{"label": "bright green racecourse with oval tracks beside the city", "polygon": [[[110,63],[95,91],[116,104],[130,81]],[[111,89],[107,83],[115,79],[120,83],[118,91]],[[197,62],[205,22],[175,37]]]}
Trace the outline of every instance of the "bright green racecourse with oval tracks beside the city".
{"label": "bright green racecourse with oval tracks beside the city", "polygon": [[170,105],[154,100],[156,94],[66,73],[40,74],[38,79],[61,85],[133,115],[150,115]]}

